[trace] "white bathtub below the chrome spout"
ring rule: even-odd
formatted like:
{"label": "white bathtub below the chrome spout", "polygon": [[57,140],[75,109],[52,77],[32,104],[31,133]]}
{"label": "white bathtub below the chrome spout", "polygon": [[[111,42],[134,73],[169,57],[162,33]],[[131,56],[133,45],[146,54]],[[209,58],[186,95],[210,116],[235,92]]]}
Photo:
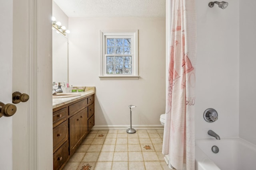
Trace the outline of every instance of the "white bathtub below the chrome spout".
{"label": "white bathtub below the chrome spout", "polygon": [[241,138],[196,139],[195,152],[196,170],[256,170],[256,145]]}

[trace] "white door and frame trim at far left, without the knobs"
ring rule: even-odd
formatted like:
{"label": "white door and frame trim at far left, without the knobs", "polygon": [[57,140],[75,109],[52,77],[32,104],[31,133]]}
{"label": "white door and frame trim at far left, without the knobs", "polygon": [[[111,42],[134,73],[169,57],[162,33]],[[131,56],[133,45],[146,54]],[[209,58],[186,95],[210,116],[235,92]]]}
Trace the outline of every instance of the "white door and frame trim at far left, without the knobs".
{"label": "white door and frame trim at far left, without the knobs", "polygon": [[0,101],[30,100],[0,118],[0,169],[52,169],[52,0],[0,0]]}

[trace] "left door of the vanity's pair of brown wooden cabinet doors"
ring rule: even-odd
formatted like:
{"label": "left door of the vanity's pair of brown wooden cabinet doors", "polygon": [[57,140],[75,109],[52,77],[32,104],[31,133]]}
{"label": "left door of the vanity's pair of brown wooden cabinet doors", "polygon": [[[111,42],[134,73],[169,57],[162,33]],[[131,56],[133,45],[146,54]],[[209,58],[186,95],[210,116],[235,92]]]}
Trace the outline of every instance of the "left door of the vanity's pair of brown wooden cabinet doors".
{"label": "left door of the vanity's pair of brown wooden cabinet doors", "polygon": [[74,148],[80,139],[80,113],[69,118],[70,134],[70,155],[74,153]]}

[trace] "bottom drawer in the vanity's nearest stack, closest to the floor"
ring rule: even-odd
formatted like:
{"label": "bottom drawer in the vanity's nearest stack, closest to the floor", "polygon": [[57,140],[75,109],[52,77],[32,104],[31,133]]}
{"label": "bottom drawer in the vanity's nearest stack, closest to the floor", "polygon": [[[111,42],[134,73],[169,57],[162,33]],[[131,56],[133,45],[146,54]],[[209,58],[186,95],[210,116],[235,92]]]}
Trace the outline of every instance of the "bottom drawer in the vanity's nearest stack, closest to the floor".
{"label": "bottom drawer in the vanity's nearest stack, closest to the floor", "polygon": [[68,159],[68,141],[53,154],[53,170],[58,170]]}

